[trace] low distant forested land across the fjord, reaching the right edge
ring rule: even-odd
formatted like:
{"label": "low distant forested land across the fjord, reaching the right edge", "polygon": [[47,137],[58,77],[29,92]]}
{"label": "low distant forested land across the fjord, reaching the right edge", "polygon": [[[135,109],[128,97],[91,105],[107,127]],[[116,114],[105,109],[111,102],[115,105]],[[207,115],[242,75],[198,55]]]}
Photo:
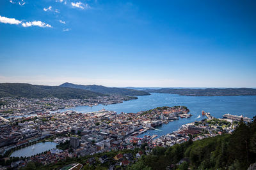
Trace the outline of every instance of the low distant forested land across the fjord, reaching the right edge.
{"label": "low distant forested land across the fjord, reaching the right edge", "polygon": [[256,89],[147,89],[145,92],[179,94],[180,96],[256,96]]}

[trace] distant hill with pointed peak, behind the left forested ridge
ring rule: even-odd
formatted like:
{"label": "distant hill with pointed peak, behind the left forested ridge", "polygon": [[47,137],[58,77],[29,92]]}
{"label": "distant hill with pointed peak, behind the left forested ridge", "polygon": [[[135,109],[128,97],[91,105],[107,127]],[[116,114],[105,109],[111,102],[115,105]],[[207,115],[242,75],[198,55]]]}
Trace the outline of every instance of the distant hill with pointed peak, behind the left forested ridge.
{"label": "distant hill with pointed peak, behind the left forested ridge", "polygon": [[76,85],[72,83],[63,83],[60,87],[71,87],[74,89],[84,89],[90,90],[92,92],[99,92],[102,94],[109,95],[127,95],[127,96],[145,96],[150,95],[148,92],[143,92],[140,90],[117,88],[117,87],[105,87],[102,85]]}

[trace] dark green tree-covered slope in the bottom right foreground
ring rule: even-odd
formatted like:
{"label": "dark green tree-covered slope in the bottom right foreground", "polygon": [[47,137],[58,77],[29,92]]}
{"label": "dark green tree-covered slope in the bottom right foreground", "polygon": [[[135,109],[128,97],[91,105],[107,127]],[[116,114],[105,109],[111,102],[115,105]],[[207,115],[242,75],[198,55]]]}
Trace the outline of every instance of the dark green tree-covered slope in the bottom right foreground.
{"label": "dark green tree-covered slope in the bottom right foreground", "polygon": [[[252,167],[252,164],[254,166]],[[241,169],[256,166],[256,117],[232,134],[156,147],[128,169]]]}

